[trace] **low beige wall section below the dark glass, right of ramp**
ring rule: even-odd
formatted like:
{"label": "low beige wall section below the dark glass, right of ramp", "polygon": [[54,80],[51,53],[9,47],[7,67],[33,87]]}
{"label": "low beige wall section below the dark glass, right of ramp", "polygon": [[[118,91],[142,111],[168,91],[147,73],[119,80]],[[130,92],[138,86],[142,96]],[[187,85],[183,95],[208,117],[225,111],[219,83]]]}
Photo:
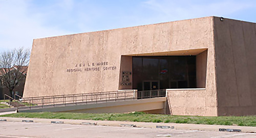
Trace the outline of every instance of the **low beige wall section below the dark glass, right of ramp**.
{"label": "low beige wall section below the dark glass, right of ramp", "polygon": [[216,97],[207,89],[168,89],[167,94],[173,115],[217,116]]}

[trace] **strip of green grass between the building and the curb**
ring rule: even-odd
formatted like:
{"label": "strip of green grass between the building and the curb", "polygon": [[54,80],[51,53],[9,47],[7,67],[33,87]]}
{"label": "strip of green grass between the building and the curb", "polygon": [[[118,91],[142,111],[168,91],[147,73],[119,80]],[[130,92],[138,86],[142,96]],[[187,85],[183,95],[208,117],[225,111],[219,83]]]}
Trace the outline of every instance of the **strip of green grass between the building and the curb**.
{"label": "strip of green grass between the building and the curb", "polygon": [[256,126],[256,116],[198,117],[198,116],[170,116],[166,114],[147,114],[143,112],[134,112],[134,113],[68,113],[68,112],[27,113],[26,112],[26,113],[6,114],[0,117]]}

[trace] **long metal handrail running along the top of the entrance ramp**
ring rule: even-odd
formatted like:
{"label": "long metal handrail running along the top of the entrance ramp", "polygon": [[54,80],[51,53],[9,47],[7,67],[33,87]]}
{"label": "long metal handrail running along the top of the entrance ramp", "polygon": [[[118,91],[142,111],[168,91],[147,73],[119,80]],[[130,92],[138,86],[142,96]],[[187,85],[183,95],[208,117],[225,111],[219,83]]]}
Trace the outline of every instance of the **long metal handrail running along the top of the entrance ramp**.
{"label": "long metal handrail running along the top of the entrance ramp", "polygon": [[[164,92],[162,94],[162,91]],[[20,102],[29,104],[31,107],[40,107],[44,108],[47,106],[56,106],[56,105],[68,105],[68,104],[79,104],[79,103],[98,103],[98,102],[109,102],[117,100],[135,100],[135,99],[144,99],[144,98],[155,98],[165,96],[164,90],[145,90],[145,91],[136,91],[136,90],[124,90],[124,91],[105,91],[98,93],[86,93],[86,94],[73,94],[73,95],[58,95],[58,96],[45,96],[45,97],[31,97],[23,98]],[[17,103],[17,108],[20,104]],[[26,107],[25,107],[26,108]]]}

